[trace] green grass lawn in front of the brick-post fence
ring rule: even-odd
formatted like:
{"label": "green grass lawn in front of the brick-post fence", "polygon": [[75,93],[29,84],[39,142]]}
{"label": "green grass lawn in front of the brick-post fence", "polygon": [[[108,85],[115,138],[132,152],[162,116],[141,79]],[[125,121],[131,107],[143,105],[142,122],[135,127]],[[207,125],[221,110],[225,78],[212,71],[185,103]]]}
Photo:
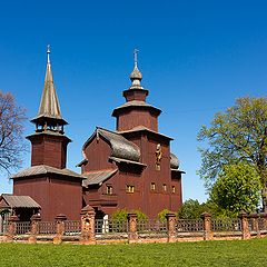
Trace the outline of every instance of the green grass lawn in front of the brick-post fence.
{"label": "green grass lawn in front of the brick-post fence", "polygon": [[0,266],[267,266],[267,238],[144,245],[0,244]]}

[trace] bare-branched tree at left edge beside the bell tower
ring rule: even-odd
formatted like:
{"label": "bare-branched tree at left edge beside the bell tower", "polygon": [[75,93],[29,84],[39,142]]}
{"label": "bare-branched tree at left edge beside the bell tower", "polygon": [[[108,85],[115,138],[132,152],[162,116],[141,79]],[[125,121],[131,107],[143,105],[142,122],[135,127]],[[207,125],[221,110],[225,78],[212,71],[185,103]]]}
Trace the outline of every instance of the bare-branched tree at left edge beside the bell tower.
{"label": "bare-branched tree at left edge beside the bell tower", "polygon": [[0,91],[0,169],[8,171],[20,167],[26,151],[23,121],[26,110],[16,105],[11,93]]}

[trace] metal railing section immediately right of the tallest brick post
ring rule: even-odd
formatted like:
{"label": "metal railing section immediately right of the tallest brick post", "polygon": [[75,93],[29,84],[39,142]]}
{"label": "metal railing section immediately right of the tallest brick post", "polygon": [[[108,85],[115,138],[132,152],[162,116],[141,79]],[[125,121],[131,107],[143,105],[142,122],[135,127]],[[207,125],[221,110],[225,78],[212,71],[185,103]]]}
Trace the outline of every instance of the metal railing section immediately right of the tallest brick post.
{"label": "metal railing section immediately right of the tallest brick post", "polygon": [[128,233],[127,221],[111,219],[96,219],[96,234],[120,234]]}

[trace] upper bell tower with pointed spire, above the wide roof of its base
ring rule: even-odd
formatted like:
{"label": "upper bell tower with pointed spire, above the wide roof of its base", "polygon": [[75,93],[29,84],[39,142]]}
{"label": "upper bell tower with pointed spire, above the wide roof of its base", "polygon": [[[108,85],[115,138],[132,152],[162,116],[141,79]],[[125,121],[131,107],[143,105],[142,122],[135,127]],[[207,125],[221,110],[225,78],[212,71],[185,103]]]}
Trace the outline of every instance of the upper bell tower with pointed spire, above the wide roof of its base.
{"label": "upper bell tower with pointed spire, above the wide roof of its base", "polygon": [[71,141],[65,136],[68,122],[62,118],[58,96],[53,85],[50,62],[50,47],[47,50],[47,71],[39,112],[31,120],[36,132],[27,138],[31,141],[31,166],[47,165],[66,168],[67,146]]}

